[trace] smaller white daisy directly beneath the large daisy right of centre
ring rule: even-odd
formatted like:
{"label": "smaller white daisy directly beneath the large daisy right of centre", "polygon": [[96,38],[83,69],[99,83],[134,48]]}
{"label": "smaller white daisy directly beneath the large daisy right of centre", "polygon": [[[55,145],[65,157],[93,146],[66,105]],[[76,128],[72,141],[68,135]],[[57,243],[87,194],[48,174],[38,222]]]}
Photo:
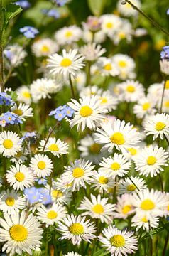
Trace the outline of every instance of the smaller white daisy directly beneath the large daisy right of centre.
{"label": "smaller white daisy directly beneath the large daisy right of centre", "polygon": [[100,171],[105,171],[112,178],[122,177],[131,169],[131,161],[128,161],[122,154],[115,153],[113,157],[103,158],[99,166],[101,166]]}

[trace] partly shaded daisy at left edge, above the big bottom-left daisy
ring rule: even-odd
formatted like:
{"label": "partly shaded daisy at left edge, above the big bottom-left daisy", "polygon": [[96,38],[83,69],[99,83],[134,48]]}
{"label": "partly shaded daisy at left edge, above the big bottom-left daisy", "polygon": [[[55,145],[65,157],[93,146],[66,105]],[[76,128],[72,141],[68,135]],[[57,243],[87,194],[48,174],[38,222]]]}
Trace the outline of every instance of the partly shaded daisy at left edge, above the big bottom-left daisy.
{"label": "partly shaded daisy at left edge, above the big bottom-left daisy", "polygon": [[0,193],[0,210],[9,215],[19,212],[20,209],[26,207],[26,199],[13,189],[9,191],[1,191]]}

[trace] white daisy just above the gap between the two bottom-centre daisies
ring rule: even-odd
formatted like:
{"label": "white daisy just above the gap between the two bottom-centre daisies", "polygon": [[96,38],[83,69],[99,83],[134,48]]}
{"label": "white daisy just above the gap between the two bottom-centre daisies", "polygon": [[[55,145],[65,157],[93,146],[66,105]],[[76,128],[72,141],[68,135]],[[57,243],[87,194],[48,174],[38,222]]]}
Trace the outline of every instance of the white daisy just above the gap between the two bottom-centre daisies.
{"label": "white daisy just above the gap between the two bottom-centre daisies", "polygon": [[113,219],[113,212],[115,205],[107,203],[108,198],[102,198],[98,195],[97,198],[94,195],[91,196],[91,201],[87,197],[84,197],[80,203],[79,210],[84,210],[82,216],[89,215],[91,218],[98,218],[102,223],[111,223]]}

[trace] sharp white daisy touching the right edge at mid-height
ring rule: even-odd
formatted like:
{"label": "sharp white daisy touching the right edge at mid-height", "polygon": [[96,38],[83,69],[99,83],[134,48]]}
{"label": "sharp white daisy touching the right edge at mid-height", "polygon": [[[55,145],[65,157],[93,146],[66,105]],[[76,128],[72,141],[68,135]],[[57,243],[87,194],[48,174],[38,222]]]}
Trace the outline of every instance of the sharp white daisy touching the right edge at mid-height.
{"label": "sharp white daisy touching the right edge at mid-height", "polygon": [[145,132],[147,135],[153,134],[153,139],[164,136],[169,139],[169,115],[168,114],[155,114],[148,117],[144,124]]}

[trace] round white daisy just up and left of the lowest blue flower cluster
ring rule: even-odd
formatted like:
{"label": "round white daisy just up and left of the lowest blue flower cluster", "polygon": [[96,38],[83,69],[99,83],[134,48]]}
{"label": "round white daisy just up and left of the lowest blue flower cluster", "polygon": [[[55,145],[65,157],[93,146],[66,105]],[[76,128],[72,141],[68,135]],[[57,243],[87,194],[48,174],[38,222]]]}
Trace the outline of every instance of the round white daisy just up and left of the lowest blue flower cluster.
{"label": "round white daisy just up and left of the lowest blue flower cluster", "polygon": [[6,171],[6,180],[13,189],[23,190],[24,188],[33,186],[35,177],[30,168],[23,164],[16,164],[16,166],[11,166],[10,169]]}

